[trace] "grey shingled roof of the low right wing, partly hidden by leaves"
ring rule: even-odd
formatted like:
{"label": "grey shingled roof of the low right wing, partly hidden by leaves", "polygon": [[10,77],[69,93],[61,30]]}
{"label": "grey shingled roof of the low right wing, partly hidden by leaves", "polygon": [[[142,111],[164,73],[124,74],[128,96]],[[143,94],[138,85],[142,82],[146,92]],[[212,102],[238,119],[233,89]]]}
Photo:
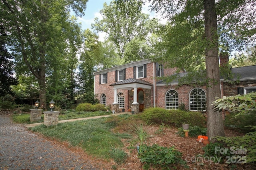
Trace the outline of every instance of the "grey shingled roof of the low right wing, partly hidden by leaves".
{"label": "grey shingled roof of the low right wing, partly hidden by leaves", "polygon": [[[243,66],[243,67],[236,67],[236,68],[231,68],[231,73],[233,74],[233,78],[229,80],[256,80],[256,65],[253,66]],[[179,78],[184,77],[187,75],[188,72],[182,72],[176,74],[177,78],[172,80],[172,82],[166,83],[163,80],[160,80],[156,82],[156,86],[162,86],[166,84],[178,84],[179,83]],[[200,79],[202,80],[202,78]],[[224,80],[223,77],[220,77],[220,80]]]}

